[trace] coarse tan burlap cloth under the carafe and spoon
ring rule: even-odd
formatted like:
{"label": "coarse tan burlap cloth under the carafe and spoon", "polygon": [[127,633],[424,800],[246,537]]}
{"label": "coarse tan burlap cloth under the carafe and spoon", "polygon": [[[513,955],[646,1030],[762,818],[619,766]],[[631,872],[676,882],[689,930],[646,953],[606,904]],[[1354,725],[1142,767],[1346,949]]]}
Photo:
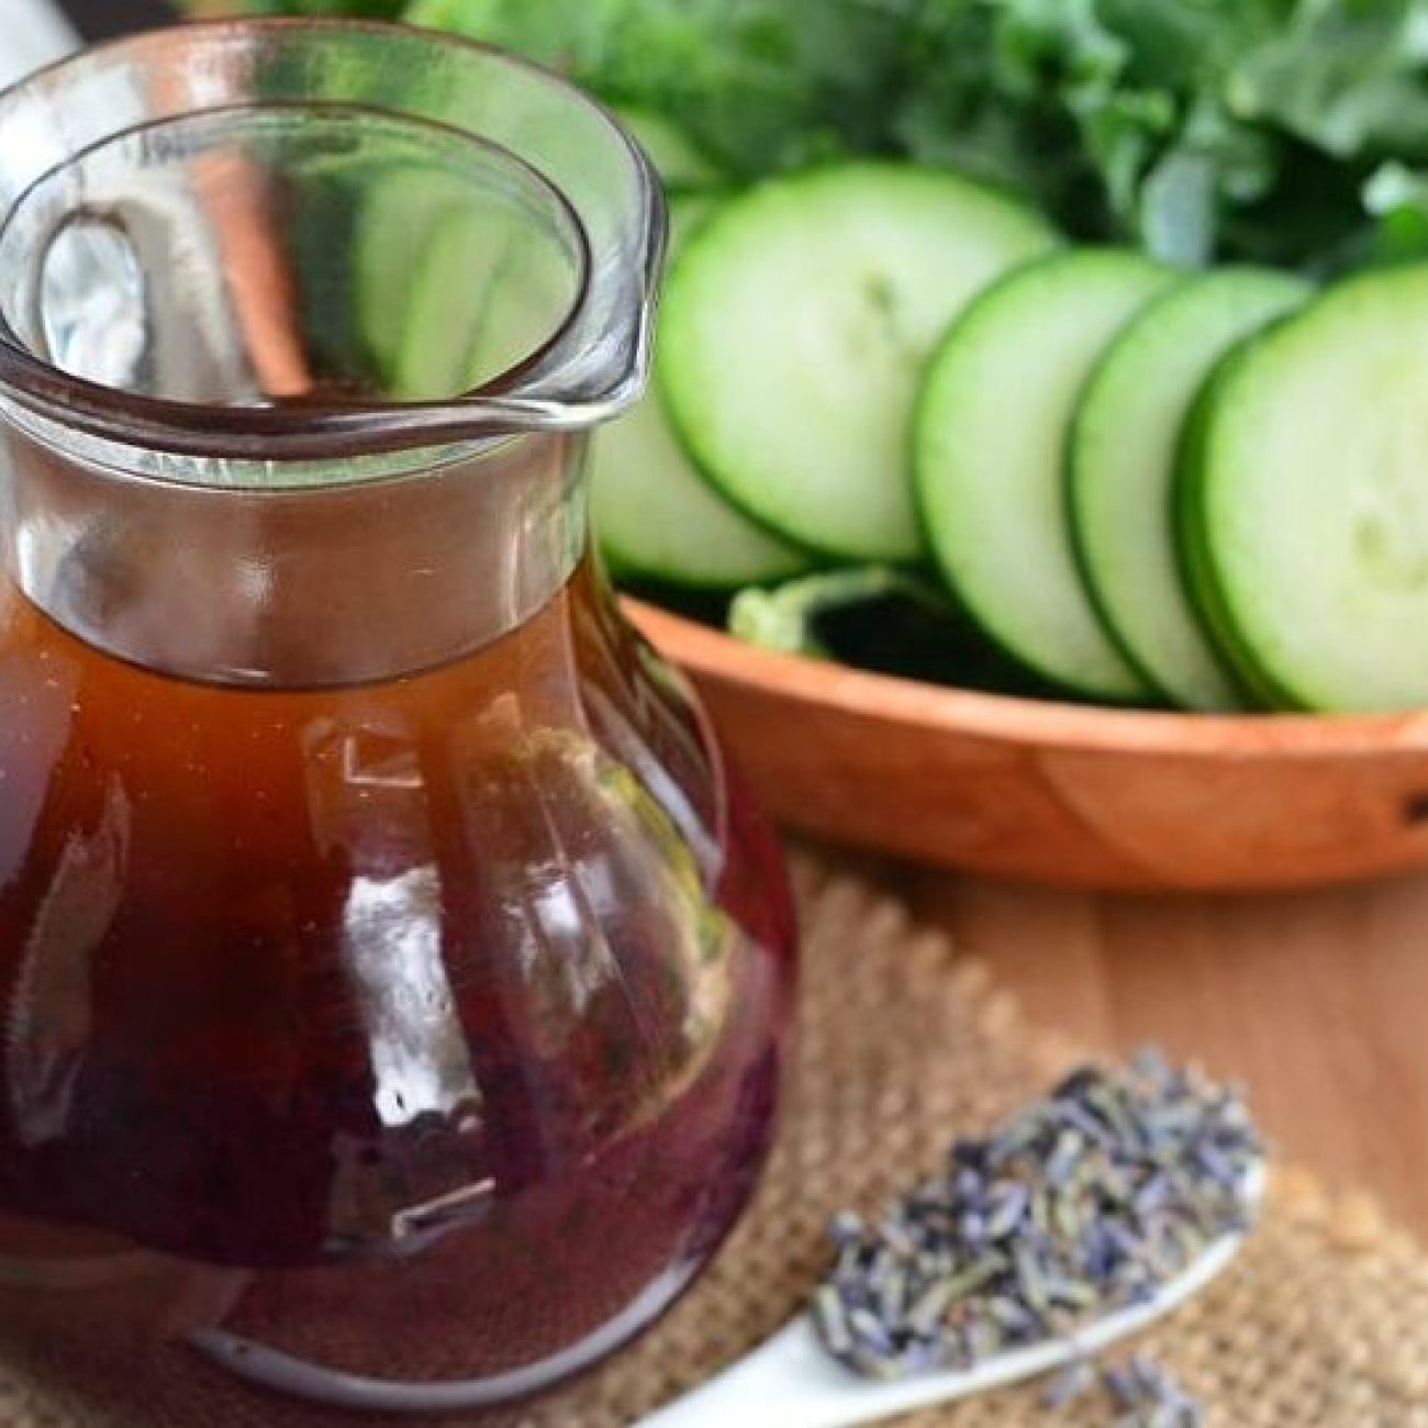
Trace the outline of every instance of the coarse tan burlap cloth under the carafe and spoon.
{"label": "coarse tan burlap cloth under the carafe and spoon", "polygon": [[[694,1292],[604,1371],[538,1407],[456,1428],[630,1428],[774,1332],[827,1267],[833,1211],[875,1211],[1041,1094],[1072,1048],[1025,1028],[985,971],[868,885],[798,867],[805,974],[780,1147],[753,1212]],[[1048,955],[1054,950],[1048,948]],[[1428,1257],[1361,1198],[1275,1177],[1240,1264],[1141,1345],[1208,1408],[1211,1428],[1428,1428]],[[213,1372],[213,1371],[206,1371]],[[0,1428],[351,1428],[234,1385],[116,1365],[80,1394],[43,1354],[0,1361]],[[200,1404],[203,1407],[200,1407]],[[1051,1411],[1027,1387],[904,1428],[1094,1428],[1102,1399]],[[383,1419],[408,1424],[414,1419]],[[755,1422],[730,1428],[761,1428]]]}

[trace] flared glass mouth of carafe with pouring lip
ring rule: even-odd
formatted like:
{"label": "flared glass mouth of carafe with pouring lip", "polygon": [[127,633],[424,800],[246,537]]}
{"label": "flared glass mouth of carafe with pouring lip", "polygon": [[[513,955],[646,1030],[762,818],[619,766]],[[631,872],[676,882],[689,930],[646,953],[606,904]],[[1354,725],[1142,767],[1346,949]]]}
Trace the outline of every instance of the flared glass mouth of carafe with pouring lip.
{"label": "flared glass mouth of carafe with pouring lip", "polygon": [[643,390],[660,186],[507,56],[198,24],[0,96],[0,386],[31,420],[334,461],[580,431]]}

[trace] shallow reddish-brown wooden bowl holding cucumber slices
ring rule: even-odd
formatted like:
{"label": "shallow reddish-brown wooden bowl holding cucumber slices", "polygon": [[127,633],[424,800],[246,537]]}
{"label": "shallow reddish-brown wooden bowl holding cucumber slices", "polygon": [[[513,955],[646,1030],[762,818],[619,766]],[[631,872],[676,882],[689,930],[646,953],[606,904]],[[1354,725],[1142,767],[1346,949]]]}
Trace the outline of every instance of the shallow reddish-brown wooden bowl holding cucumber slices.
{"label": "shallow reddish-brown wooden bowl holding cucumber slices", "polygon": [[1428,863],[1428,711],[1208,717],[770,654],[630,601],[793,828],[1071,887],[1248,891]]}

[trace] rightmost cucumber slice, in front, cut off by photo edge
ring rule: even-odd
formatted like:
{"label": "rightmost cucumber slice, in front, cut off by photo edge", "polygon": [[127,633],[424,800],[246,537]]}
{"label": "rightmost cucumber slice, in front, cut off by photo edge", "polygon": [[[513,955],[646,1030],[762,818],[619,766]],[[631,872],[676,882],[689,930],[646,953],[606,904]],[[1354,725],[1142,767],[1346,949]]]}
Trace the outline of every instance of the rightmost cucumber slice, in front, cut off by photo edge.
{"label": "rightmost cucumber slice, in front, cut off by photo edge", "polygon": [[1281,704],[1428,704],[1425,331],[1428,266],[1352,278],[1251,338],[1192,418],[1192,588]]}

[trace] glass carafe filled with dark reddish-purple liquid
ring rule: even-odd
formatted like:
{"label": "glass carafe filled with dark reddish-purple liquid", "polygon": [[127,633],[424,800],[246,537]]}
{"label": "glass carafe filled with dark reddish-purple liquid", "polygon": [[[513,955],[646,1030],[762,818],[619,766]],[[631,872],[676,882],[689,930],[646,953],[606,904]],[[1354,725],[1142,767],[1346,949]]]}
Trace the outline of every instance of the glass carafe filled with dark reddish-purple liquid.
{"label": "glass carafe filled with dark reddish-purple liquid", "polygon": [[491,50],[204,24],[0,96],[0,1352],[184,1428],[543,1391],[787,1050],[777,848],[590,550],[648,166]]}

